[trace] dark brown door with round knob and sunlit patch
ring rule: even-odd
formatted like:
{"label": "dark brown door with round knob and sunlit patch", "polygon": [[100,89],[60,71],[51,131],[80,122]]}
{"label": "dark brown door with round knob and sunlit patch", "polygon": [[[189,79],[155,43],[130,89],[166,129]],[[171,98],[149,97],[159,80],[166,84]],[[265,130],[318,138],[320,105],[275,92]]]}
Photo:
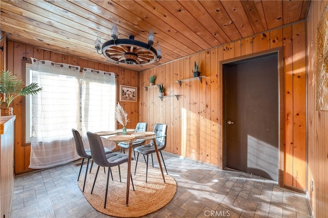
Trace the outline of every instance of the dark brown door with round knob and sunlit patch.
{"label": "dark brown door with round knob and sunlit patch", "polygon": [[223,65],[228,168],[278,181],[277,54]]}

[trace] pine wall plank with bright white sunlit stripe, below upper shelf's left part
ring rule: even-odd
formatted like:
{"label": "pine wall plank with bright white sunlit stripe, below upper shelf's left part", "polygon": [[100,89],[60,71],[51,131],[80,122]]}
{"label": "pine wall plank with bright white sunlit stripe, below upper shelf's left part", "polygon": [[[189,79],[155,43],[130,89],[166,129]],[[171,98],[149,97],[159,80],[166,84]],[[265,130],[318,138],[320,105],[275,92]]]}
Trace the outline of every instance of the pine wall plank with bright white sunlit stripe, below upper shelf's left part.
{"label": "pine wall plank with bright white sunlit stripe, below upper shelf's left part", "polygon": [[[190,57],[182,59],[183,68],[182,73],[183,79],[190,78],[192,69],[190,69]],[[182,134],[182,156],[190,157],[190,81],[181,83],[183,89],[183,104],[181,108],[181,134]]]}

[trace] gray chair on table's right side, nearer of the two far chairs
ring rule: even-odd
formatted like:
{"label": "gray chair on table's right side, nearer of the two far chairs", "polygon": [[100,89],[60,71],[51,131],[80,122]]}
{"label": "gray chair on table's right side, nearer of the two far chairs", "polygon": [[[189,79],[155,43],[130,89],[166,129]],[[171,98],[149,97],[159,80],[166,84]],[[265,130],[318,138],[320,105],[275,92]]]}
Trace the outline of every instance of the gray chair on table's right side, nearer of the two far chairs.
{"label": "gray chair on table's right side, nearer of the two far chairs", "polygon": [[[166,173],[168,174],[168,170],[166,169],[165,162],[164,162],[164,159],[163,159],[163,155],[162,155],[162,152],[161,152],[166,147],[166,132],[167,132],[167,129],[168,129],[167,124],[156,123],[155,126],[154,126],[153,132],[156,134],[156,136],[161,136],[159,138],[156,138],[156,145],[157,145],[158,151],[160,152],[160,156],[162,157]],[[135,172],[137,170],[139,154],[144,155],[144,156],[147,155],[147,161],[146,161],[146,183],[147,183],[148,155],[150,155],[150,154],[152,155],[153,153],[156,152],[154,142],[151,141],[147,145],[139,146],[139,147],[134,148],[134,150],[138,152],[137,161],[136,161],[135,169],[134,169],[134,175],[135,175]],[[153,156],[152,156],[152,159],[153,159]],[[154,167],[154,165],[153,165],[153,167]]]}

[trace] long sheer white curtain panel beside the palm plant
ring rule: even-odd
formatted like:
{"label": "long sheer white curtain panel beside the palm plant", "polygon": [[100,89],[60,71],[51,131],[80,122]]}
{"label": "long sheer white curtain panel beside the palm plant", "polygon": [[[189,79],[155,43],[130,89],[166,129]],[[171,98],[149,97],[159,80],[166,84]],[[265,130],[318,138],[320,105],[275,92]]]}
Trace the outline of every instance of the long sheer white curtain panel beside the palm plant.
{"label": "long sheer white curtain panel beside the palm plant", "polygon": [[77,160],[72,128],[79,126],[79,67],[32,59],[32,82],[43,88],[32,96],[29,168]]}

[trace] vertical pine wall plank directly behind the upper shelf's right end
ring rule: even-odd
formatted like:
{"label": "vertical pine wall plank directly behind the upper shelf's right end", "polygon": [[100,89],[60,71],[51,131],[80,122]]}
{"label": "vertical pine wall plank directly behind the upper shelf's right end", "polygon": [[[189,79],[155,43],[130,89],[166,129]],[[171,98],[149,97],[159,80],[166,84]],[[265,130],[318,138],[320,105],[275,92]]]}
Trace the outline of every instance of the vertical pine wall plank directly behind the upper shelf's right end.
{"label": "vertical pine wall plank directly behind the upper shelf's right end", "polygon": [[[199,60],[201,64],[201,76],[207,74],[207,59],[206,52],[199,53]],[[206,109],[207,109],[207,93],[206,93],[206,78],[203,78],[202,83],[199,83],[199,161],[206,162]]]}

